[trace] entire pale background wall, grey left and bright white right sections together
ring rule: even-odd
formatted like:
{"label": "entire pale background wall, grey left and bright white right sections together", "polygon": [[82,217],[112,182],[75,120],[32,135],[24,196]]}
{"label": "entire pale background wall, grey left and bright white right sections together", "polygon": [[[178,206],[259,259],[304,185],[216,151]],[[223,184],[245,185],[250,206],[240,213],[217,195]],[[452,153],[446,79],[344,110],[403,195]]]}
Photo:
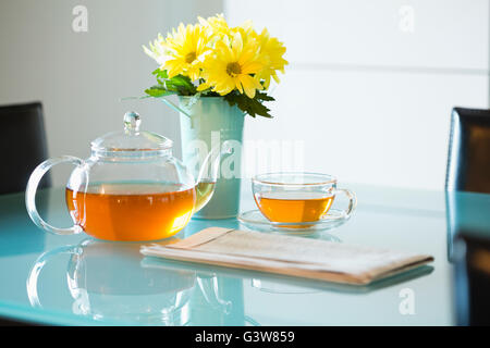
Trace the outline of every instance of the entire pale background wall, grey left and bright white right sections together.
{"label": "entire pale background wall, grey left and bright white right sections together", "polygon": [[[88,9],[88,33],[72,30],[76,4]],[[154,82],[143,44],[222,9],[221,0],[3,0],[0,104],[44,102],[50,156],[87,157],[127,110],[174,139],[179,154],[173,111],[120,98]],[[440,189],[452,107],[489,107],[489,0],[226,0],[224,11],[285,42],[275,117],[247,119],[245,138],[303,144],[305,170]],[[54,171],[57,185],[66,173]]]}

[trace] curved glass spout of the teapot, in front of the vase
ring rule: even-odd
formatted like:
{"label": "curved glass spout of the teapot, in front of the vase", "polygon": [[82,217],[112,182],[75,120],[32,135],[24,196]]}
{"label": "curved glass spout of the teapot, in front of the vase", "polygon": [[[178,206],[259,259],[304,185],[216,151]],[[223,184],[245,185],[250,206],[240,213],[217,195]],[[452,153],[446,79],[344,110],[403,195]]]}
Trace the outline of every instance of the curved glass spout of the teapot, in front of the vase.
{"label": "curved glass spout of the teapot, in front of the vase", "polygon": [[231,153],[226,142],[215,146],[203,162],[195,186],[197,199],[194,212],[201,210],[212,198],[220,173],[221,154]]}

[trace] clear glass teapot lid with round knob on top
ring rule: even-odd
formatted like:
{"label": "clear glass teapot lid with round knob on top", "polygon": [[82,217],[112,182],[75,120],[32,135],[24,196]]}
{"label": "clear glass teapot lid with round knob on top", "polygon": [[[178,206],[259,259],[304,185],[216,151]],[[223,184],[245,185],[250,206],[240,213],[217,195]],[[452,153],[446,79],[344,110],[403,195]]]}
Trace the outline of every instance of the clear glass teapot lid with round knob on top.
{"label": "clear glass teapot lid with round knob on top", "polygon": [[172,140],[159,134],[139,130],[142,119],[138,113],[128,111],[124,114],[124,130],[108,133],[91,141],[91,150],[111,152],[111,154],[135,154],[136,151],[148,153],[172,148]]}

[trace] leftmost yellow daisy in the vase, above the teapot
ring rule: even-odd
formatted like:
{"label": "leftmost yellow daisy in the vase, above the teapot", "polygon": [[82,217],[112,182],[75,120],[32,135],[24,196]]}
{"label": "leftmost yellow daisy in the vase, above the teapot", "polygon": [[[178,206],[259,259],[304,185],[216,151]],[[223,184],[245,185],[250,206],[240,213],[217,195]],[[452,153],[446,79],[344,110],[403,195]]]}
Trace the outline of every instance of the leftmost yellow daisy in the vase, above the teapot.
{"label": "leftmost yellow daisy in the vase, above the teapot", "polygon": [[203,61],[210,52],[208,46],[209,33],[200,25],[184,26],[180,24],[177,30],[172,29],[166,40],[170,58],[161,66],[167,70],[169,78],[179,74],[196,80],[200,77]]}

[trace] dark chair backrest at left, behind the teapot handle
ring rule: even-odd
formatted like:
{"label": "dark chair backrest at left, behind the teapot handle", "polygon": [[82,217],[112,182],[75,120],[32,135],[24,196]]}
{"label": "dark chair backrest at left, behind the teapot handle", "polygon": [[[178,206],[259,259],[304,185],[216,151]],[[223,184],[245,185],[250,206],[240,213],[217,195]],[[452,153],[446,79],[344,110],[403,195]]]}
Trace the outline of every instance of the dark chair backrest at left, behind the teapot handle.
{"label": "dark chair backrest at left, behind the teapot handle", "polygon": [[[32,102],[0,107],[0,195],[25,190],[34,169],[48,157],[42,104]],[[39,187],[51,185],[49,173]]]}

